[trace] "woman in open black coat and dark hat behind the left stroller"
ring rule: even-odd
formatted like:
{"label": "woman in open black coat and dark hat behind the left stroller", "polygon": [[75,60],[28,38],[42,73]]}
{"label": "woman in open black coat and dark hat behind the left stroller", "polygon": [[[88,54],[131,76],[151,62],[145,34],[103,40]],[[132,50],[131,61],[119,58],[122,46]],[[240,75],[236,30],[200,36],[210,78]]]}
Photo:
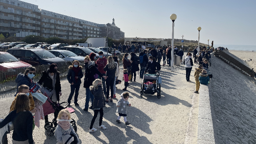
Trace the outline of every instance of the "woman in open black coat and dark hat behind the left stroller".
{"label": "woman in open black coat and dark hat behind the left stroller", "polygon": [[[57,103],[57,101],[60,101],[61,93],[61,85],[60,85],[60,72],[57,71],[58,66],[57,64],[51,64],[50,67],[43,71],[43,75],[39,80],[39,84],[42,85],[44,88],[41,89],[41,91],[44,92],[50,92],[50,95],[48,95],[51,99],[51,101]],[[54,118],[56,119],[58,116],[58,113],[54,112]],[[48,115],[44,116],[45,123],[48,122]]]}

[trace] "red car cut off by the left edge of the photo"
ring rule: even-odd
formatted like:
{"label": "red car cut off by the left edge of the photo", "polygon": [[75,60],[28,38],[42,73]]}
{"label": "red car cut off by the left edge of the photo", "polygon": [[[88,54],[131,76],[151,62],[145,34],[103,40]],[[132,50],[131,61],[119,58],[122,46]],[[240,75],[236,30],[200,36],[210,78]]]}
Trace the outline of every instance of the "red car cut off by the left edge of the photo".
{"label": "red car cut off by the left edge of the photo", "polygon": [[8,52],[0,52],[0,70],[26,68],[28,66],[31,65],[26,62],[19,61],[16,57],[12,56]]}

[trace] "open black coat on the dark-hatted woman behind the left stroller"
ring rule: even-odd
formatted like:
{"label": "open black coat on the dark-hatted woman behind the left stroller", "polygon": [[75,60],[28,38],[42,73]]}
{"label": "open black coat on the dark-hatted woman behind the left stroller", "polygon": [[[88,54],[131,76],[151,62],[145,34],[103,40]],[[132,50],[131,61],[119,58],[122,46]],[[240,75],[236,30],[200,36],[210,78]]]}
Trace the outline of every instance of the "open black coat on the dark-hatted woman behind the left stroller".
{"label": "open black coat on the dark-hatted woman behind the left stroller", "polygon": [[[51,90],[53,90],[53,79],[50,78],[49,76],[49,68],[46,70],[46,71],[43,71],[43,75],[42,77],[40,78],[40,80],[38,81],[38,83],[40,85],[42,85],[43,87],[47,87]],[[57,97],[57,100],[60,101],[60,92],[61,92],[61,85],[60,85],[60,72],[56,72],[54,73],[54,77],[56,75],[56,83],[54,85],[55,87],[55,90],[56,90],[56,97]]]}

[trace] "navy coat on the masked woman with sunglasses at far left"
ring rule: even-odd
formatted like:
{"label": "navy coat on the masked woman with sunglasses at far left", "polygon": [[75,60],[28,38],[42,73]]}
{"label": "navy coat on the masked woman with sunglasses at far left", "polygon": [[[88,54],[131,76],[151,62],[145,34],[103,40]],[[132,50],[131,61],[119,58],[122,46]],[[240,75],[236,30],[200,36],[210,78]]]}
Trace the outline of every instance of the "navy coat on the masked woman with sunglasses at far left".
{"label": "navy coat on the masked woman with sunglasses at far left", "polygon": [[24,75],[22,73],[18,74],[17,78],[15,79],[15,82],[17,83],[17,92],[19,92],[18,88],[21,85],[27,85],[28,87],[31,87],[32,85],[35,84],[35,82],[33,81],[33,78],[30,79],[28,78],[27,75]]}

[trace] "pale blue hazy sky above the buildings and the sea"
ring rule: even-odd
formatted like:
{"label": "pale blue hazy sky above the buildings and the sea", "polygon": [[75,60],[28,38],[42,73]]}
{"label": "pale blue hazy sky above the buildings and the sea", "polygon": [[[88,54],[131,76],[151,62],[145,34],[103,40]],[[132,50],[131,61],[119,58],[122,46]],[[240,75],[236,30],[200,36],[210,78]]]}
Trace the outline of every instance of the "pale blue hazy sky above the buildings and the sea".
{"label": "pale blue hazy sky above the buildings and the sea", "polygon": [[200,43],[256,45],[256,0],[22,0],[59,14],[115,24],[125,37],[174,38]]}

